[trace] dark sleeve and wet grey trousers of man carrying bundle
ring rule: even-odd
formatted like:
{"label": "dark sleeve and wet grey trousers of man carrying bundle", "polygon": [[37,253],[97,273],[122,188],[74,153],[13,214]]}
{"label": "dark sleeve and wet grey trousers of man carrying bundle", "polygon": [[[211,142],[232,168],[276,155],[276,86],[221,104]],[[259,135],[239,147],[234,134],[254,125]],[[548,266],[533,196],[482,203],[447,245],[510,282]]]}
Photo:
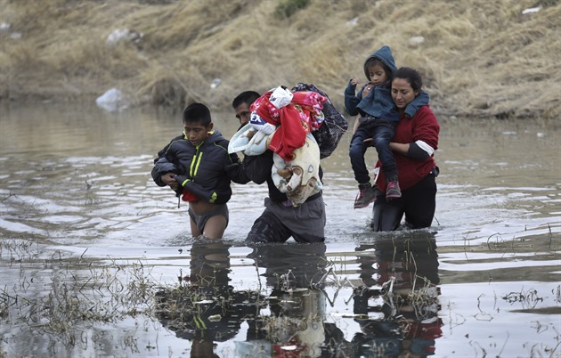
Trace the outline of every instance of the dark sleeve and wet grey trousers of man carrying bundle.
{"label": "dark sleeve and wet grey trousers of man carrying bundle", "polygon": [[[272,181],[272,151],[258,156],[246,156],[244,173],[254,183],[267,182],[269,198],[265,198],[264,212],[248,233],[252,242],[285,242],[290,236],[297,242],[323,242],[326,223],[325,204],[321,191],[310,196],[299,207],[293,207],[286,194]],[[320,177],[322,176],[320,170]]]}

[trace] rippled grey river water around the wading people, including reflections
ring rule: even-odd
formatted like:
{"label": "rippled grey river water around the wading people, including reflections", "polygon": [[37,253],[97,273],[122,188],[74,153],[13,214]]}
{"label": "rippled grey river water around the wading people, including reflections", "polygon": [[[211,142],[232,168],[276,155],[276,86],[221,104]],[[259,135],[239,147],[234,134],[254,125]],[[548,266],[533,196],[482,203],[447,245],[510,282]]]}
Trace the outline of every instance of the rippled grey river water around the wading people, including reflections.
{"label": "rippled grey river water around the wading people, including reflections", "polygon": [[429,230],[370,231],[345,134],[325,243],[252,246],[264,185],[208,241],[152,182],[180,111],[4,103],[0,357],[561,356],[561,123],[439,121]]}

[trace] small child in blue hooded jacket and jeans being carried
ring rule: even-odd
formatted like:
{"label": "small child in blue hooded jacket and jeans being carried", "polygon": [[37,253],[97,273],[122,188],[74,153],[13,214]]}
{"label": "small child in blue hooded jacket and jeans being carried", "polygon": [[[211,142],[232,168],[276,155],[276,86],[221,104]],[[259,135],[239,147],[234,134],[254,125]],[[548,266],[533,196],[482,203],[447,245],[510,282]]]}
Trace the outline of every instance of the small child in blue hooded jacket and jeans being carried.
{"label": "small child in blue hooded jacket and jeans being carried", "polygon": [[[364,162],[364,153],[371,144],[378,151],[378,159],[382,162],[382,171],[387,178],[386,199],[402,196],[394,154],[389,147],[399,121],[390,88],[396,69],[392,50],[388,45],[383,45],[364,61],[364,74],[369,82],[362,86],[358,94],[355,94],[359,83],[356,78],[351,79],[345,89],[347,113],[351,116],[360,115],[349,148],[354,179],[359,183],[354,208],[368,207],[376,200],[376,190],[370,183]],[[428,104],[428,100],[428,94],[423,92],[407,106],[405,113],[412,118],[421,106]]]}

